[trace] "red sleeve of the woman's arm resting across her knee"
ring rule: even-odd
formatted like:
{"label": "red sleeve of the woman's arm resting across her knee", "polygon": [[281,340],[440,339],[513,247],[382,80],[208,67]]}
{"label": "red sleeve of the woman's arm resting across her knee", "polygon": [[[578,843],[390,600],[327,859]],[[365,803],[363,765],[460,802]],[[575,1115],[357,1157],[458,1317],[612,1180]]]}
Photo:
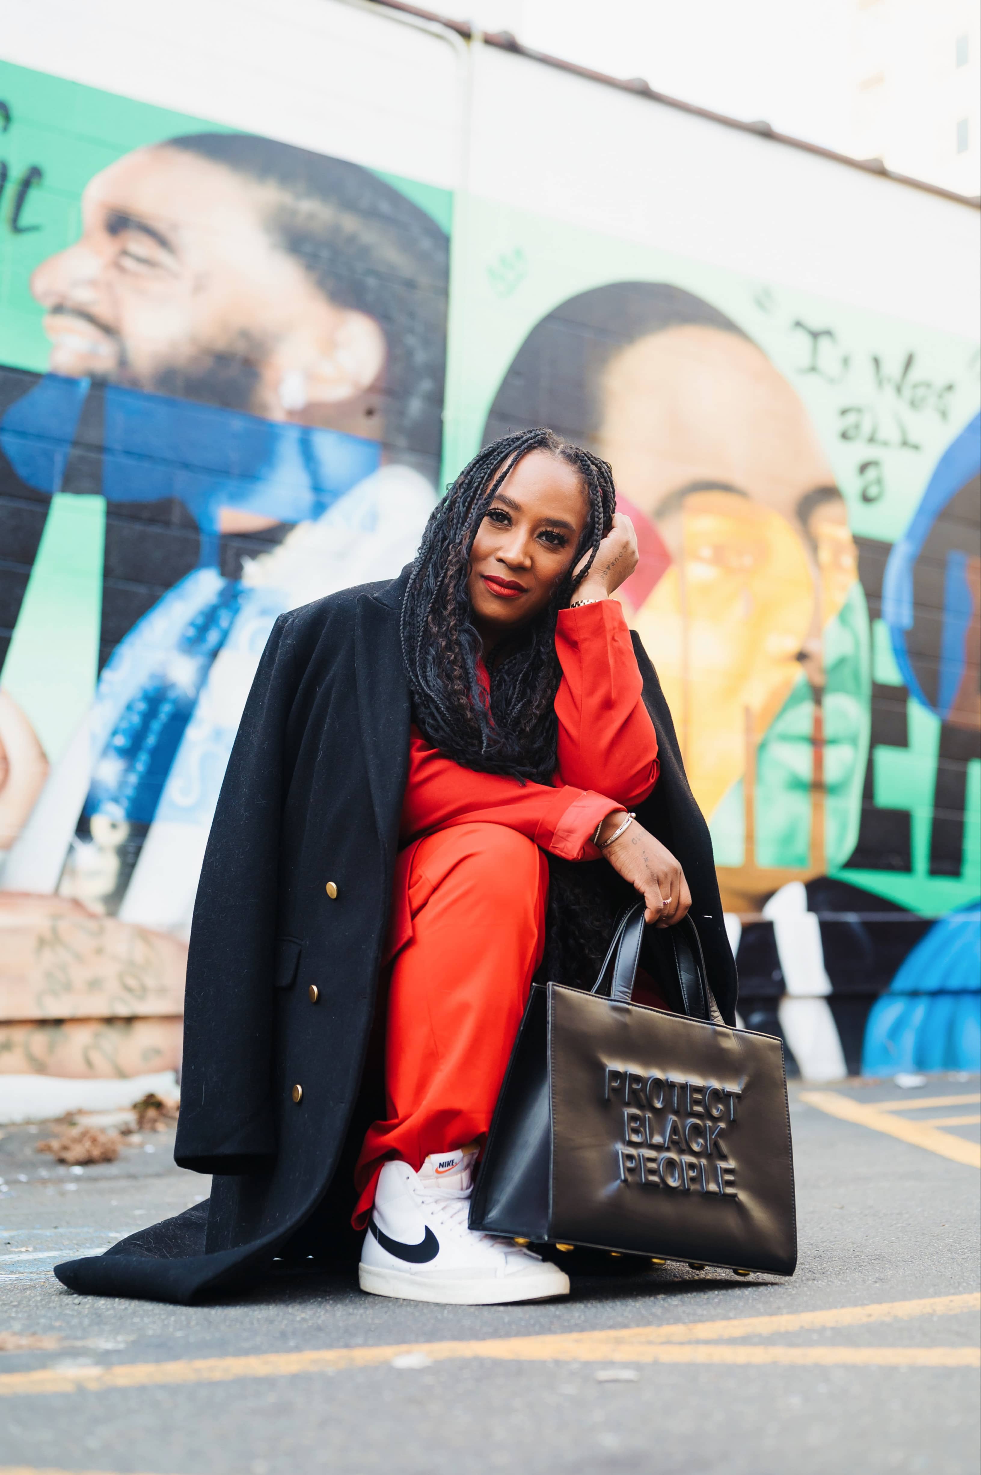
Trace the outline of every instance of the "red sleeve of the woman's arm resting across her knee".
{"label": "red sleeve of the woman's arm resting across her knee", "polygon": [[451,825],[507,825],[552,856],[592,860],[598,853],[589,836],[617,807],[602,794],[574,786],[521,785],[496,773],[461,768],[412,727],[402,844]]}

